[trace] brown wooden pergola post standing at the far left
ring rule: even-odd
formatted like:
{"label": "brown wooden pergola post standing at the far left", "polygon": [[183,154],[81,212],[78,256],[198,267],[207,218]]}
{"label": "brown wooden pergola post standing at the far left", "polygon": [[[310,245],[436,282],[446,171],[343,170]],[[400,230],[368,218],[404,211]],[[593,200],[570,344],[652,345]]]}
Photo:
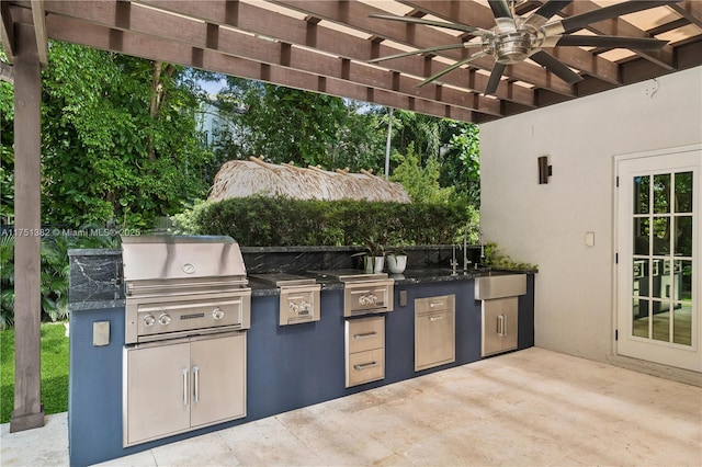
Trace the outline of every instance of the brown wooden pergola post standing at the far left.
{"label": "brown wooden pergola post standing at the far left", "polygon": [[41,375],[42,75],[34,29],[15,24],[14,411],[10,432],[44,426]]}

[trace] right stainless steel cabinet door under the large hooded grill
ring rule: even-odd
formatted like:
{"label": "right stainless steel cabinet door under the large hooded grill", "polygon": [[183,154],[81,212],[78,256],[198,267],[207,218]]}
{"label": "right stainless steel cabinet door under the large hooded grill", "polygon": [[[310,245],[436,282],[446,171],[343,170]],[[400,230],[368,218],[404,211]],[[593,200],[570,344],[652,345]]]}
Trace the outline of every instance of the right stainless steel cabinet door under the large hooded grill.
{"label": "right stainless steel cabinet door under the large hooded grill", "polygon": [[191,344],[193,428],[246,415],[246,333]]}

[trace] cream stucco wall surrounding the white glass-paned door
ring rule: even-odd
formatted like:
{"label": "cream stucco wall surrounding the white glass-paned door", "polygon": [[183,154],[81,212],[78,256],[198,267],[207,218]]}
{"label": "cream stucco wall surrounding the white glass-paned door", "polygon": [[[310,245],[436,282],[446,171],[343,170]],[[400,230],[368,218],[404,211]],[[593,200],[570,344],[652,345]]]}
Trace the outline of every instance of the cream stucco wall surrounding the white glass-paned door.
{"label": "cream stucco wall surrounding the white glass-paned door", "polygon": [[[614,355],[612,213],[614,156],[700,143],[702,68],[480,126],[482,227],[514,260],[539,264],[537,346],[698,377]],[[553,176],[540,185],[544,155]]]}

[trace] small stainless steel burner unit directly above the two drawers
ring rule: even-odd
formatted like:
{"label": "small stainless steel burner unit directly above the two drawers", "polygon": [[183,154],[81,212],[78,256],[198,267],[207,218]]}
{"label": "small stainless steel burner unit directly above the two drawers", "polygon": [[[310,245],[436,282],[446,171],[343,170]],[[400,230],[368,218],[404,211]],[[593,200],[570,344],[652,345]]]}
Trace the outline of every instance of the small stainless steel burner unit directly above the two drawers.
{"label": "small stainless steel burner unit directly above the two drawers", "polygon": [[308,271],[320,278],[343,283],[343,316],[372,315],[393,310],[395,281],[386,273],[360,270]]}

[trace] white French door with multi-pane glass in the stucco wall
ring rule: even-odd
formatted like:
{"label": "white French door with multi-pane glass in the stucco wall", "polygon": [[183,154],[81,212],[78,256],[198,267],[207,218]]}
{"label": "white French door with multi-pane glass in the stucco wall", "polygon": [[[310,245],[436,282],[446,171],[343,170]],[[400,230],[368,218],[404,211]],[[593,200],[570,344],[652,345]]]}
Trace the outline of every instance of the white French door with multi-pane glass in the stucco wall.
{"label": "white French door with multi-pane glass in the stucco wall", "polygon": [[616,159],[616,353],[702,372],[702,147]]}

